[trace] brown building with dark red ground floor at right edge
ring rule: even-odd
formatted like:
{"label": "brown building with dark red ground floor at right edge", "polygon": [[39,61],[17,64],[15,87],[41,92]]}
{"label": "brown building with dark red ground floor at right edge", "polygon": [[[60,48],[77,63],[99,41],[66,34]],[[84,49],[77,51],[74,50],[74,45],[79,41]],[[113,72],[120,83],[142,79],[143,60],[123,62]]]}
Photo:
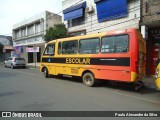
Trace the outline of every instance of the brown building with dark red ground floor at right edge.
{"label": "brown building with dark red ground floor at right edge", "polygon": [[147,43],[147,74],[154,75],[160,59],[160,0],[142,0],[141,30]]}

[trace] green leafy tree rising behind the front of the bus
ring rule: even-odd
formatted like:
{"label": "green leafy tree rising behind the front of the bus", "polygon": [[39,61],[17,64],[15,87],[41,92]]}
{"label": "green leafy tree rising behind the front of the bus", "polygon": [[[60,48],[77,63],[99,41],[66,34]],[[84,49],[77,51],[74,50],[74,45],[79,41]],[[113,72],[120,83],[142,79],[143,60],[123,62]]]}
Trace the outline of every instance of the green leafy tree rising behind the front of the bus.
{"label": "green leafy tree rising behind the front of the bus", "polygon": [[43,36],[43,39],[46,42],[49,42],[51,40],[59,39],[59,38],[65,38],[67,37],[67,28],[64,24],[57,24],[54,27],[50,27],[46,34]]}

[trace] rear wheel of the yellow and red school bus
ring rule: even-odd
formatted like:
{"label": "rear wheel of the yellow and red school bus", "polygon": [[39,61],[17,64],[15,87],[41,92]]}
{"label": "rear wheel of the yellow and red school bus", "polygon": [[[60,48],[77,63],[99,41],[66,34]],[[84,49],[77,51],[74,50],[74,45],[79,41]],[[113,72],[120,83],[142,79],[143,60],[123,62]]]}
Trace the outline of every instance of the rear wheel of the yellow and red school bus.
{"label": "rear wheel of the yellow and red school bus", "polygon": [[90,72],[85,73],[82,77],[82,80],[83,80],[83,83],[88,87],[92,87],[95,85],[95,78],[93,74]]}

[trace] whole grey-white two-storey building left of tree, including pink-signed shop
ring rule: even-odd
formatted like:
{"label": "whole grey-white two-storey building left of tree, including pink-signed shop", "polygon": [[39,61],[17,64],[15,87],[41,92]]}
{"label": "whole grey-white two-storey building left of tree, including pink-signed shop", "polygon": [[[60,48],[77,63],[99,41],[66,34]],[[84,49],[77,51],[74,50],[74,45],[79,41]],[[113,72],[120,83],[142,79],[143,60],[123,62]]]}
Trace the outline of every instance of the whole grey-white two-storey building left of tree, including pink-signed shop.
{"label": "whole grey-white two-storey building left of tree, including pink-signed shop", "polygon": [[43,36],[49,27],[62,23],[60,15],[44,11],[13,26],[14,52],[28,63],[40,62],[45,47]]}

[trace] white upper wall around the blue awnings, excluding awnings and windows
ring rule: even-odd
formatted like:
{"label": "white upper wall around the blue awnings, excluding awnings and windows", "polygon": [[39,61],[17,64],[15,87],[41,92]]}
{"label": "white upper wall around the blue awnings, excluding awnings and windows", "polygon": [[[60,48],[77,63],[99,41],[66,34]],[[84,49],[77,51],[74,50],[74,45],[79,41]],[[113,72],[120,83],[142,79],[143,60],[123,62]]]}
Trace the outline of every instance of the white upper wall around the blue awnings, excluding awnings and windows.
{"label": "white upper wall around the blue awnings, excluding awnings and windows", "polygon": [[[93,6],[95,11],[92,14],[85,13],[85,24],[70,27],[68,28],[69,32],[86,29],[86,34],[91,34],[98,32],[106,32],[110,30],[139,28],[140,0],[128,0],[127,17],[121,19],[109,20],[102,23],[98,23],[96,4],[94,3],[94,0],[65,0],[62,3],[62,8],[64,10],[68,7],[75,5],[76,3],[80,4],[84,1],[87,2],[87,7]],[[64,21],[64,23],[67,25],[67,21]]]}

